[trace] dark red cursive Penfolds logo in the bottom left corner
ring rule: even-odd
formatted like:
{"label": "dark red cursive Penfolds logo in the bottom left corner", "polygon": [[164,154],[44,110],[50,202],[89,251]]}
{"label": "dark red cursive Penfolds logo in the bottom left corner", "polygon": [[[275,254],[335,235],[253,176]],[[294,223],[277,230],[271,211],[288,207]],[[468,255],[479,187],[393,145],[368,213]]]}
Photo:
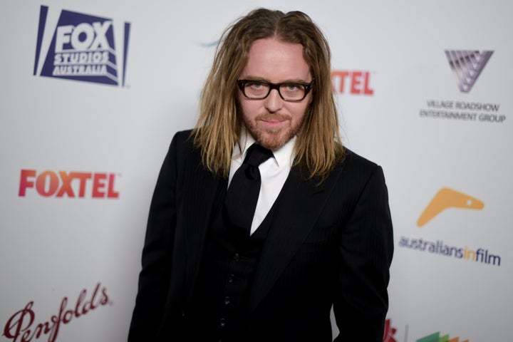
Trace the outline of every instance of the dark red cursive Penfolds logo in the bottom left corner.
{"label": "dark red cursive Penfolds logo in the bottom left corner", "polygon": [[90,294],[87,289],[83,289],[76,303],[71,304],[73,306],[68,306],[68,297],[64,297],[57,314],[51,316],[48,321],[36,323],[34,302],[29,301],[23,309],[16,311],[9,318],[4,327],[4,336],[13,342],[30,342],[48,336],[48,342],[55,342],[63,324],[71,323],[74,319],[110,303],[107,288],[98,283]]}

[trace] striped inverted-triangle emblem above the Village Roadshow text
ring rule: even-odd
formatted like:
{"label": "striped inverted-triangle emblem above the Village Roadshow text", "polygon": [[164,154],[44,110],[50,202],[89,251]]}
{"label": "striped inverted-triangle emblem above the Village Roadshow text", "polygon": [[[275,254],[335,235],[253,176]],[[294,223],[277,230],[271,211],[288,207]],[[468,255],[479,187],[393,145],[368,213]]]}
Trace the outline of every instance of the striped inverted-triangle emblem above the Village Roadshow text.
{"label": "striped inverted-triangle emblem above the Village Roadshow text", "polygon": [[468,93],[480,76],[493,51],[445,50],[462,93]]}

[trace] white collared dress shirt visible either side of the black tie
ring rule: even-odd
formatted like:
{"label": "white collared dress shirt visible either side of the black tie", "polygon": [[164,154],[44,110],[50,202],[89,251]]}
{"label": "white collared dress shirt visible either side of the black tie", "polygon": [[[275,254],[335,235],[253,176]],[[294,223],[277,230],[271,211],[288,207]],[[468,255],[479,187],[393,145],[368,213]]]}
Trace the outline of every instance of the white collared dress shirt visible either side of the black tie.
{"label": "white collared dress shirt visible either side of the black tie", "polygon": [[[242,153],[239,147],[235,146],[232,155],[232,163],[230,164],[228,186],[230,182],[232,182],[235,171],[237,171],[242,165],[242,162],[244,162],[248,147],[255,142],[254,138],[244,129],[242,130],[240,141]],[[295,136],[283,147],[272,151],[274,157],[262,162],[259,166],[261,186],[250,234],[253,234],[261,222],[264,221],[267,213],[276,201],[281,188],[285,184],[286,178],[289,176],[292,162],[294,162],[294,142],[296,142]]]}

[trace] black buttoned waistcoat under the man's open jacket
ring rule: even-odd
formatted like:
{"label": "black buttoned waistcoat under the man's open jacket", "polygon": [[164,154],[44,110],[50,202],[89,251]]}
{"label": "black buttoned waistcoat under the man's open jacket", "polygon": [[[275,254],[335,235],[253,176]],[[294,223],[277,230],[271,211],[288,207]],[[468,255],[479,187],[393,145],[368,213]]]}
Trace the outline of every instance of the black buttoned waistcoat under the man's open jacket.
{"label": "black buttoned waistcoat under the man's open jacket", "polygon": [[187,310],[188,341],[241,341],[247,326],[247,299],[271,225],[274,205],[251,237],[234,232],[224,219],[226,190],[217,197],[202,265]]}

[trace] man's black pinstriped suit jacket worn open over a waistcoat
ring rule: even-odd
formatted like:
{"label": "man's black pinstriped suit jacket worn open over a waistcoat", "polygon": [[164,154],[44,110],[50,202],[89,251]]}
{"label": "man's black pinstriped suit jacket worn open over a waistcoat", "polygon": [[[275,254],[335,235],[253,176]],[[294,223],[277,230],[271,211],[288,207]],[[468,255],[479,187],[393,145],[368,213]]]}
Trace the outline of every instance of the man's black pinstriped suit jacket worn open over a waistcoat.
{"label": "man's black pinstriped suit jacket worn open over a waistcoat", "polygon": [[[227,186],[204,169],[189,136],[175,135],[157,180],[130,342],[188,341],[212,204]],[[254,274],[244,341],[331,341],[332,305],[336,341],[382,341],[392,255],[380,166],[347,150],[321,185],[293,167]]]}

